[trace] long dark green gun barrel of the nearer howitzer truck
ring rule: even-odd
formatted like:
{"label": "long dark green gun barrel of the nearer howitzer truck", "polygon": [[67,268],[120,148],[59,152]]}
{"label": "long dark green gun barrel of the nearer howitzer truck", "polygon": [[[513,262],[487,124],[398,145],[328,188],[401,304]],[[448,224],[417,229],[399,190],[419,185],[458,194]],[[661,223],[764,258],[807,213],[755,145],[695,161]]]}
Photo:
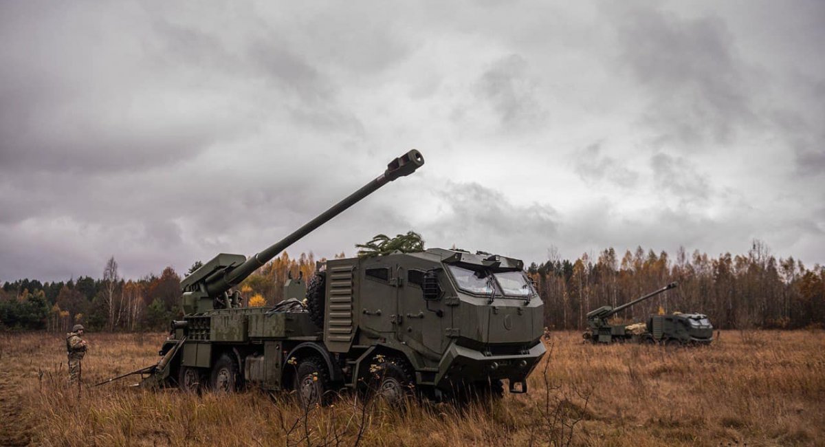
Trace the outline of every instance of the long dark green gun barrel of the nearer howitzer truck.
{"label": "long dark green gun barrel of the nearer howitzer truck", "polygon": [[[332,208],[318,214],[318,217],[310,220],[286,238],[272,244],[264,251],[257,253],[257,255],[250,256],[243,262],[243,264],[240,264],[234,268],[230,267],[215,271],[213,274],[208,275],[204,280],[205,292],[210,296],[223,294],[234,285],[238,285],[238,283],[243,281],[247,276],[252,275],[252,272],[256,271],[258,267],[266,264],[266,262],[277,256],[278,253],[283,252],[287,247],[290,247],[290,245],[295,243],[295,241],[298,241],[300,238],[303,238],[307,234],[311,233],[315,228],[320,227],[338,214],[341,214],[342,211],[352,205],[355,205],[359,200],[365,198],[367,195],[370,195],[381,186],[386,185],[390,181],[394,181],[398,177],[412,174],[419,167],[422,167],[423,164],[424,158],[422,157],[422,154],[415,149],[403,154],[401,157],[395,158],[392,162],[389,162],[387,169],[383,174],[375,177],[373,181],[370,181],[365,186],[362,186],[358,191],[348,195],[347,198],[341,200],[336,205],[333,205]],[[196,275],[193,274],[191,276]],[[189,278],[187,278],[187,280],[188,279]],[[195,278],[193,278],[193,280],[194,279]],[[184,280],[184,283],[186,283],[186,280]],[[181,286],[186,287],[186,284],[184,283],[181,283]]]}

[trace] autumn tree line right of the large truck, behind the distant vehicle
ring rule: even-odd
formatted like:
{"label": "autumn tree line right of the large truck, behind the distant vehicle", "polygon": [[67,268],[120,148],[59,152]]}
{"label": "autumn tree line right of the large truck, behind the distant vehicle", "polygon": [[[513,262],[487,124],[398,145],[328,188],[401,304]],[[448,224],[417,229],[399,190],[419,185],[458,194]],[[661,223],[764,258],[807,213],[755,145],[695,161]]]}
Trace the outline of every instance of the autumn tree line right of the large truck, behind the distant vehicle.
{"label": "autumn tree line right of the large truck, behind the distant vehicle", "polygon": [[825,324],[825,267],[806,268],[776,258],[758,240],[744,255],[709,257],[684,248],[672,257],[638,247],[623,255],[608,248],[574,261],[533,263],[528,274],[544,299],[551,329],[582,329],[589,311],[613,307],[676,281],[678,287],[627,308],[617,321],[643,321],[651,313],[705,313],[721,329],[785,329]]}

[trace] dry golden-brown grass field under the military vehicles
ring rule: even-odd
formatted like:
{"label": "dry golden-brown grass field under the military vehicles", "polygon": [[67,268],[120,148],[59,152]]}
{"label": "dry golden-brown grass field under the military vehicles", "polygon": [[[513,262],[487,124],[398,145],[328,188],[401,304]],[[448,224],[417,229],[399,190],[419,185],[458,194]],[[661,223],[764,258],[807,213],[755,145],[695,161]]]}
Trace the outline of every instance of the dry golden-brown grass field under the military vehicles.
{"label": "dry golden-brown grass field under the military vehicles", "polygon": [[[151,365],[162,334],[87,334],[84,383]],[[68,389],[64,339],[0,334],[0,445],[823,445],[825,333],[722,332],[714,346],[592,346],[555,332],[530,393],[406,411],[351,396]],[[544,368],[546,366],[546,369]],[[375,402],[372,401],[372,402]]]}

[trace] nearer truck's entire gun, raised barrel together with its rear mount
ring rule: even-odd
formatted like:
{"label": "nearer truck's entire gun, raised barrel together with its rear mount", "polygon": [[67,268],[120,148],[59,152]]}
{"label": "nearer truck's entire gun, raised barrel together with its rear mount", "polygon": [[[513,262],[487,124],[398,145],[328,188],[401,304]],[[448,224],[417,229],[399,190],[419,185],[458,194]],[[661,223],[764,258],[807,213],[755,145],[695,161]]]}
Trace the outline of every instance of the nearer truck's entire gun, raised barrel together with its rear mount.
{"label": "nearer truck's entire gun, raised barrel together with its rear mount", "polygon": [[318,217],[310,220],[287,237],[267,247],[262,252],[247,258],[243,255],[220,253],[191,275],[181,280],[183,293],[183,309],[185,313],[202,313],[218,308],[233,308],[238,306],[238,294],[229,295],[229,290],[241,281],[252,275],[259,267],[283,252],[287,247],[300,238],[314,231],[328,222],[345,209],[355,205],[367,195],[372,194],[381,186],[398,177],[408,176],[424,164],[422,154],[413,149],[401,157],[389,162],[387,169],[380,176],[362,186],[358,191],[348,195],[345,199],[332,205]]}

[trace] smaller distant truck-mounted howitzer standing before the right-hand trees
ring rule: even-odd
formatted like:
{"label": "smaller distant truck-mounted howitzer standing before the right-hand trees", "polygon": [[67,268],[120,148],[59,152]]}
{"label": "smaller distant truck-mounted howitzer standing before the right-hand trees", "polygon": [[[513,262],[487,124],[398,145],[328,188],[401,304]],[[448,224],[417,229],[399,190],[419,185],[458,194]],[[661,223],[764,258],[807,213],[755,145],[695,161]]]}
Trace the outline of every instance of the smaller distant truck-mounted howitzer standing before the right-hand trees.
{"label": "smaller distant truck-mounted howitzer standing before the right-hand trees", "polygon": [[590,331],[584,333],[584,339],[593,343],[636,341],[639,343],[659,343],[667,346],[709,344],[713,341],[714,327],[710,324],[707,316],[701,313],[651,315],[647,322],[634,324],[611,324],[608,322],[610,317],[625,308],[675,288],[676,283],[671,283],[662,287],[662,289],[655,290],[617,308],[602,306],[587,313],[587,327]]}

